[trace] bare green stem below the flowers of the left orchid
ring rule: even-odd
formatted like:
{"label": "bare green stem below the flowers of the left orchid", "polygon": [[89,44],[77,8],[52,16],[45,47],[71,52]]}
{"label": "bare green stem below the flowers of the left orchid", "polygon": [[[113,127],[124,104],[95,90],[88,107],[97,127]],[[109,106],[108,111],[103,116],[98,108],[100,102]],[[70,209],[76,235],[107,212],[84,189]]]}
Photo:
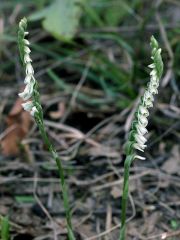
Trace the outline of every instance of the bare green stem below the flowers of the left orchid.
{"label": "bare green stem below the flowers of the left orchid", "polygon": [[52,154],[53,159],[56,161],[56,165],[58,167],[58,173],[59,173],[59,177],[60,177],[60,186],[61,186],[61,191],[62,191],[62,196],[63,196],[63,204],[64,204],[64,209],[66,212],[68,237],[69,237],[69,240],[75,240],[75,236],[74,236],[73,230],[72,230],[71,210],[70,210],[70,206],[69,206],[67,186],[66,186],[66,182],[65,182],[65,178],[64,178],[64,170],[63,170],[62,162],[61,162],[56,150],[54,149],[53,145],[51,144],[51,142],[48,138],[48,135],[46,133],[46,130],[45,130],[44,122],[41,120],[41,117],[38,114],[36,114],[35,120],[39,127],[42,138],[48,147],[48,150]]}

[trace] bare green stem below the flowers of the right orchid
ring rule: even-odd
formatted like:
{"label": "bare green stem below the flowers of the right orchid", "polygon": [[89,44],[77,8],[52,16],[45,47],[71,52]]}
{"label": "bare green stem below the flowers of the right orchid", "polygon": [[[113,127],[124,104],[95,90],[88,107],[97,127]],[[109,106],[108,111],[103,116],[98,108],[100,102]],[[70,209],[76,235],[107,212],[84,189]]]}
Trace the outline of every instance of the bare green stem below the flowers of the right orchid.
{"label": "bare green stem below the flowers of the right orchid", "polygon": [[129,193],[129,170],[131,163],[134,160],[134,155],[129,155],[126,157],[124,162],[124,183],[123,183],[123,194],[122,194],[122,213],[121,213],[121,231],[119,240],[126,239],[126,209],[128,202],[128,193]]}

